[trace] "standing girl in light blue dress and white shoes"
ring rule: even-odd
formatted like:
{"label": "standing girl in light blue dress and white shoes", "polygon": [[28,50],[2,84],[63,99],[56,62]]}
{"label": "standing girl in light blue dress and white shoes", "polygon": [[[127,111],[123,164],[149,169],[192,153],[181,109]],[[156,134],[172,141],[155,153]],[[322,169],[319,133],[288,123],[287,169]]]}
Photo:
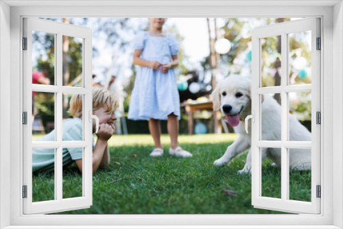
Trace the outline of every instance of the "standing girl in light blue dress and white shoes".
{"label": "standing girl in light blue dress and white shoes", "polygon": [[149,19],[149,31],[140,32],[134,39],[133,63],[139,65],[131,95],[128,119],[149,120],[149,130],[155,148],[150,156],[162,156],[160,120],[167,120],[171,139],[169,154],[191,157],[178,146],[180,98],[174,67],[178,66],[178,41],[163,34],[165,19]]}

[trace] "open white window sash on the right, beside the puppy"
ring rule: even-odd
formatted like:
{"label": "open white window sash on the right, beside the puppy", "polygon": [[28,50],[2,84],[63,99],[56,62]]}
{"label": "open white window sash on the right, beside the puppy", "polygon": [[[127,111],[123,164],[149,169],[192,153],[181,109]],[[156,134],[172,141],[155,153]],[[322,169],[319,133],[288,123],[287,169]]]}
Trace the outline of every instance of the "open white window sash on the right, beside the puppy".
{"label": "open white window sash on the right, beside the puppy", "polygon": [[[289,84],[289,34],[311,31],[311,84]],[[281,77],[280,86],[262,86],[261,40],[281,36]],[[320,38],[320,19],[307,18],[274,25],[257,27],[252,30],[252,205],[263,209],[282,209],[289,213],[320,213],[320,198],[316,197],[316,186],[320,185],[320,127],[316,124],[316,112],[320,112],[320,50],[316,49],[316,38]],[[289,92],[311,92],[311,141],[289,141]],[[261,95],[281,95],[281,139],[263,141]],[[253,118],[253,119],[254,119]],[[324,125],[324,123],[323,123]],[[262,191],[261,148],[281,149],[281,198],[264,197]],[[311,150],[311,201],[289,200],[289,149]],[[288,156],[287,156],[288,155]]]}

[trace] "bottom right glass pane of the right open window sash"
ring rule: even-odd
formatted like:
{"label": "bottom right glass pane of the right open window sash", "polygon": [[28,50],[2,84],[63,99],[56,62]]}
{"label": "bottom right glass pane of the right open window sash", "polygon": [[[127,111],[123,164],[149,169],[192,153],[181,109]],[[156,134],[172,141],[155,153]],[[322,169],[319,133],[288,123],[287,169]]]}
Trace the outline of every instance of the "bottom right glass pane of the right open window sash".
{"label": "bottom right glass pane of the right open window sash", "polygon": [[311,202],[311,149],[289,149],[289,200]]}

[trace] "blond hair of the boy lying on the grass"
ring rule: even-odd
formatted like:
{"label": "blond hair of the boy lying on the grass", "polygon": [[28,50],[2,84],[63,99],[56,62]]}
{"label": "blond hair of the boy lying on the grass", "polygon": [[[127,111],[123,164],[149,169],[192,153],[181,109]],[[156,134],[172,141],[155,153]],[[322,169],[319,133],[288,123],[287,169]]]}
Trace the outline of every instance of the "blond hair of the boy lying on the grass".
{"label": "blond hair of the boy lying on the grass", "polygon": [[[82,95],[74,94],[70,100],[70,112],[74,118],[82,117]],[[110,113],[115,112],[118,107],[117,97],[105,88],[93,88],[93,111],[99,108],[109,110]]]}

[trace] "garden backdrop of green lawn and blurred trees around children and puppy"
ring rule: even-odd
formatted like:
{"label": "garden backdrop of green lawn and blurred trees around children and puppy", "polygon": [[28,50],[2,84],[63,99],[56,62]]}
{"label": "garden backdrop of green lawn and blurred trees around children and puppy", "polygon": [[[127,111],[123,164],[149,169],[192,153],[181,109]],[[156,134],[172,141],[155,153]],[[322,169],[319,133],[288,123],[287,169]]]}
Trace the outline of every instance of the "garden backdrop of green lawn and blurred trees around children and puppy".
{"label": "garden backdrop of green lawn and blurred trees around children and puppy", "polygon": [[[93,176],[93,206],[75,210],[74,214],[250,214],[276,213],[251,206],[251,178],[239,176],[246,153],[229,167],[214,167],[213,161],[224,154],[237,135],[226,126],[211,134],[211,112],[199,111],[196,135],[188,133],[185,110],[180,120],[180,145],[193,153],[191,159],[150,158],[153,148],[147,121],[130,121],[127,117],[137,67],[132,64],[132,39],[148,27],[147,19],[48,19],[90,27],[93,31],[93,86],[113,91],[120,101],[117,110],[117,135],[110,140],[111,165]],[[224,77],[251,77],[251,30],[254,27],[294,19],[167,19],[165,32],[174,34],[180,45],[180,65],[176,69],[180,103],[211,101],[211,91]],[[262,44],[263,86],[278,86],[281,81],[280,37],[266,38]],[[228,40],[228,51],[220,53],[218,40]],[[289,79],[292,84],[311,83],[311,56],[308,34],[290,38]],[[82,82],[82,40],[63,36],[63,85]],[[45,72],[54,84],[54,35],[33,34],[33,71]],[[273,51],[279,50],[279,51]],[[295,63],[302,64],[295,64]],[[294,64],[292,64],[294,63]],[[114,79],[114,80],[113,80]],[[281,103],[278,95],[272,95]],[[69,101],[64,95],[63,118],[71,118]],[[311,94],[290,97],[289,111],[311,130]],[[54,94],[36,93],[33,141],[54,130]],[[161,122],[167,133],[166,122]],[[198,128],[198,129],[197,129]],[[165,149],[169,147],[163,135]],[[82,195],[82,177],[74,165],[63,171],[66,197]],[[263,195],[281,195],[281,171],[263,165]],[[34,175],[35,201],[54,197],[54,173]],[[80,183],[81,182],[81,183]],[[310,201],[311,172],[292,171],[290,178],[294,200]],[[80,189],[81,185],[81,189]],[[51,187],[52,186],[52,187]],[[52,191],[52,194],[51,194]],[[80,192],[81,191],[81,192]]]}

